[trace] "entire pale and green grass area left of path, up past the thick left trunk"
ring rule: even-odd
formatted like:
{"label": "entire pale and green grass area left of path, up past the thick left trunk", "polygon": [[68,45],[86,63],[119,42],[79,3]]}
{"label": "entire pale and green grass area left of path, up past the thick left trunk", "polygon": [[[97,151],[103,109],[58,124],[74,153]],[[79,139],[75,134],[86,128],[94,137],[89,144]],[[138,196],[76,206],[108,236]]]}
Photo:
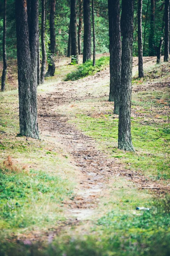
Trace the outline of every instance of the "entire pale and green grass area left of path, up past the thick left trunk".
{"label": "entire pale and green grass area left of path, up past the thick left trunk", "polygon": [[58,154],[50,137],[17,136],[15,90],[3,93],[0,100],[0,230],[3,236],[24,229],[48,230],[65,220],[63,201],[72,197],[74,168],[70,171],[69,158]]}

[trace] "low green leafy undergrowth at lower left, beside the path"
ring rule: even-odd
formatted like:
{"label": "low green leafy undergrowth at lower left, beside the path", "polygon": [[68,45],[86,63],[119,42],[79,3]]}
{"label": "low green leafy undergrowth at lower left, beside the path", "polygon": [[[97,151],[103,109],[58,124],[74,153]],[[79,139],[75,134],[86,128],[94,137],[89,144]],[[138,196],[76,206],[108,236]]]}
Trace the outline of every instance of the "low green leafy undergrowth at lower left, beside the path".
{"label": "low green leafy undergrowth at lower left, beside the path", "polygon": [[61,177],[33,169],[19,173],[0,169],[0,229],[54,223],[68,196],[68,182]]}

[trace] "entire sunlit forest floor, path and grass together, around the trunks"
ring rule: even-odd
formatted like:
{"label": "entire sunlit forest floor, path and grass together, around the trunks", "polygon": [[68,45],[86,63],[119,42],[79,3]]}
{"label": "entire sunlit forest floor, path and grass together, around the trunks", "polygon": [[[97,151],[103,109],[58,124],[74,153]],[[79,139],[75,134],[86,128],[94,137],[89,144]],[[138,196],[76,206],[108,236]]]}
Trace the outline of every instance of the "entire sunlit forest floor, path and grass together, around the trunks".
{"label": "entire sunlit forest floor, path and grass together, around the trunks", "polygon": [[[170,63],[156,65],[155,57],[144,57],[145,77],[138,79],[138,59],[133,58],[133,153],[117,149],[118,116],[108,102],[109,67],[63,81],[76,68],[69,61],[58,61],[54,78],[38,88],[41,140],[16,136],[17,90],[0,95],[1,186],[6,182],[1,236],[28,247],[57,241],[58,249],[48,255],[53,250],[67,256],[152,255],[148,237],[161,232],[166,241],[170,234],[163,221],[167,215],[161,215],[165,211],[155,214],[155,198],[170,192]],[[136,207],[151,210],[141,213]],[[153,250],[154,239],[150,241]]]}

